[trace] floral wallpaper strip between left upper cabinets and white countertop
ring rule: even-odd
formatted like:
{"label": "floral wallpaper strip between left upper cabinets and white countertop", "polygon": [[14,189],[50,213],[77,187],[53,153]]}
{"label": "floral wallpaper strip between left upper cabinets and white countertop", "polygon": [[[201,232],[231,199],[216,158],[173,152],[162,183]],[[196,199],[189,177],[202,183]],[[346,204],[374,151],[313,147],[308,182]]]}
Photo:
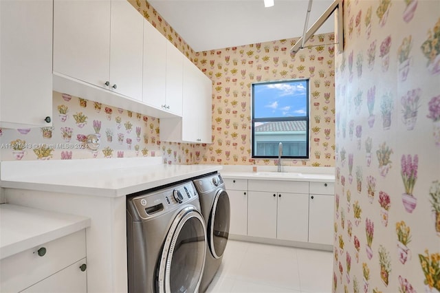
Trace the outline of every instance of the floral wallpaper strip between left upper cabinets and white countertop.
{"label": "floral wallpaper strip between left upper cabinets and white countertop", "polygon": [[[189,163],[189,146],[159,141],[159,120],[85,98],[53,92],[53,126],[2,129],[2,160],[72,160],[160,156]],[[100,139],[87,147],[87,135]],[[187,160],[188,157],[188,160]]]}

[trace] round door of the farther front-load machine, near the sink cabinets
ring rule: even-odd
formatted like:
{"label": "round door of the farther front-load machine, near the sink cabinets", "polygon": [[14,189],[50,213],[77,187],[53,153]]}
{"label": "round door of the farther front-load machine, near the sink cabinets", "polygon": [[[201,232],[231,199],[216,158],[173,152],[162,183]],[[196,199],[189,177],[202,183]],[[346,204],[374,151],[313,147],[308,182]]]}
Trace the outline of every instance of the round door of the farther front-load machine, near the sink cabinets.
{"label": "round door of the farther front-load machine, near the sink cabinets", "polygon": [[208,243],[211,254],[218,259],[223,255],[229,237],[229,196],[223,189],[217,191],[208,221]]}

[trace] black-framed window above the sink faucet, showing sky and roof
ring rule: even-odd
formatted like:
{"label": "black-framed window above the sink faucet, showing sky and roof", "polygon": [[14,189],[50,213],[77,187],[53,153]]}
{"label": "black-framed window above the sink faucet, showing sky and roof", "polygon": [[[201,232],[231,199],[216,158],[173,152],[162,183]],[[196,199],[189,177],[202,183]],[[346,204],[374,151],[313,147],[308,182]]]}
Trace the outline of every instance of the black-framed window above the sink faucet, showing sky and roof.
{"label": "black-framed window above the sink faucet, showing sky and roof", "polygon": [[309,80],[252,84],[252,158],[309,158]]}

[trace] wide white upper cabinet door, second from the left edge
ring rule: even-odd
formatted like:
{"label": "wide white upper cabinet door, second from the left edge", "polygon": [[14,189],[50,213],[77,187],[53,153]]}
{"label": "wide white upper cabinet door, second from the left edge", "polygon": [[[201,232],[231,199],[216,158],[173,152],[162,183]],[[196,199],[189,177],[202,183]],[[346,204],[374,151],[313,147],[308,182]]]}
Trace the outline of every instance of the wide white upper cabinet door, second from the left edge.
{"label": "wide white upper cabinet door, second from the left edge", "polygon": [[106,87],[110,12],[110,0],[54,0],[54,72]]}

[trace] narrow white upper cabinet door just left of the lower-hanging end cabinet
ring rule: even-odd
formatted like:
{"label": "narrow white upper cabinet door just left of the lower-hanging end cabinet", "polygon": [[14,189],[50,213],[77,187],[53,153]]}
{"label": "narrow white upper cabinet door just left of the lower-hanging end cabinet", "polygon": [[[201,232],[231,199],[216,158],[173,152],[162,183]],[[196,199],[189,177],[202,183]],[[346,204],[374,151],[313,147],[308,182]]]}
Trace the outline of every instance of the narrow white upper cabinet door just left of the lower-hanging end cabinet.
{"label": "narrow white upper cabinet door just left of the lower-hanging end cabinet", "polygon": [[[166,110],[177,115],[182,113],[184,54],[172,43],[166,42]],[[168,108],[169,107],[169,108]]]}

